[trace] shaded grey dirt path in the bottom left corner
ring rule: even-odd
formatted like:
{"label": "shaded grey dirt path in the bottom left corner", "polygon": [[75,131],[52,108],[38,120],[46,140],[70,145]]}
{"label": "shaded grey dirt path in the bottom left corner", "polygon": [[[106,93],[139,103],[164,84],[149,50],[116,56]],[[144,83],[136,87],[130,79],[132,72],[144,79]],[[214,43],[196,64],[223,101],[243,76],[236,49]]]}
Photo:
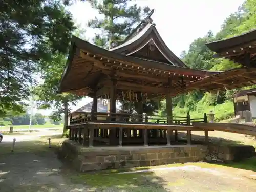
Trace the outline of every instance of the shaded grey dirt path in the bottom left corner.
{"label": "shaded grey dirt path in the bottom left corner", "polygon": [[0,157],[0,191],[87,191],[60,174],[61,163],[53,152],[13,153]]}

